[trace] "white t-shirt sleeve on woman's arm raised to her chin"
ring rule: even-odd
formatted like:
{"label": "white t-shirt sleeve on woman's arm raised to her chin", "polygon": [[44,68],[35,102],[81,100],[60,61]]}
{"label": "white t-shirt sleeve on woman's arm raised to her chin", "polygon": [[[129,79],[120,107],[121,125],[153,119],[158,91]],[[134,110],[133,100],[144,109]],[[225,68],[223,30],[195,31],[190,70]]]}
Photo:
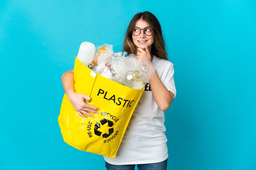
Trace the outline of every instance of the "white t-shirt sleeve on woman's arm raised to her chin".
{"label": "white t-shirt sleeve on woman's arm raised to her chin", "polygon": [[[167,70],[167,71],[166,71]],[[174,82],[174,68],[173,68],[173,63],[168,63],[168,65],[166,65],[165,68],[165,72],[166,74],[163,84],[166,87],[166,89],[168,89],[168,91],[173,93],[173,97],[176,97],[176,88],[175,88],[175,82]]]}

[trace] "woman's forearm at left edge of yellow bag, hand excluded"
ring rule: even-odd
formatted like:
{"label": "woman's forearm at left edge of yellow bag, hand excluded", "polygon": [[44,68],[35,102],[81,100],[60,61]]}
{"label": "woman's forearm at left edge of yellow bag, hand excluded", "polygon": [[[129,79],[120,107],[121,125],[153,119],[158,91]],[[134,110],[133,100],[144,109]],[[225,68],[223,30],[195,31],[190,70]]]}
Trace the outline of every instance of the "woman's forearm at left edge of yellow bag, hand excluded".
{"label": "woman's forearm at left edge of yellow bag, hand excluded", "polygon": [[69,97],[72,93],[74,93],[74,70],[69,70],[61,76],[62,85],[64,91]]}

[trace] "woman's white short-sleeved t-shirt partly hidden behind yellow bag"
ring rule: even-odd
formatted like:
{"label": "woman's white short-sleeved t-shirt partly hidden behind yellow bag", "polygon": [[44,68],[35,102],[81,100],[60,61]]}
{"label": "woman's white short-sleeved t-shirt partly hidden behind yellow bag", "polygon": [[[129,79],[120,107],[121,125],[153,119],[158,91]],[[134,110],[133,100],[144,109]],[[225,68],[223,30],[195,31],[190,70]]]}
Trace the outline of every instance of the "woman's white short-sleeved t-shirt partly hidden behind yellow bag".
{"label": "woman's white short-sleeved t-shirt partly hidden behind yellow bag", "polygon": [[[153,56],[152,63],[165,87],[176,96],[173,63]],[[114,165],[157,163],[168,158],[164,134],[164,111],[157,106],[150,84],[146,83],[115,158],[105,157]]]}

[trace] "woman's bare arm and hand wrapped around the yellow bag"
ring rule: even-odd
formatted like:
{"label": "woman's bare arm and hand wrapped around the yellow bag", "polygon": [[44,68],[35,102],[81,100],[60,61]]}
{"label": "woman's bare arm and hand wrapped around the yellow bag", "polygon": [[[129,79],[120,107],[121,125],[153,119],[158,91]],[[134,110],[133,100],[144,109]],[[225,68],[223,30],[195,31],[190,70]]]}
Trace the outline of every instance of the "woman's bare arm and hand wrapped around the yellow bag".
{"label": "woman's bare arm and hand wrapped around the yellow bag", "polygon": [[98,114],[97,110],[99,110],[99,108],[85,103],[85,100],[88,102],[91,101],[89,96],[74,92],[74,70],[69,70],[63,73],[61,81],[67,94],[67,98],[70,100],[77,113],[84,118],[87,118],[87,116],[94,118],[94,116],[88,113],[88,111]]}

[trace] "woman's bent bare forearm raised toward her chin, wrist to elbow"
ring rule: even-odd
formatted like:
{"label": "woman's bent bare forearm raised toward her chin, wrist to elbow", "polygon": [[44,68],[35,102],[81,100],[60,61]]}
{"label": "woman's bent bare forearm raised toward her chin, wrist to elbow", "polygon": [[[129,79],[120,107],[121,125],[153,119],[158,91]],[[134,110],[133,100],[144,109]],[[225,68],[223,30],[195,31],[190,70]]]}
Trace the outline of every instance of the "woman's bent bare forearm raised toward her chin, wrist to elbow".
{"label": "woman's bent bare forearm raised toward her chin, wrist to elbow", "polygon": [[158,107],[163,111],[169,109],[173,101],[173,94],[166,89],[157,72],[150,78],[149,84]]}

